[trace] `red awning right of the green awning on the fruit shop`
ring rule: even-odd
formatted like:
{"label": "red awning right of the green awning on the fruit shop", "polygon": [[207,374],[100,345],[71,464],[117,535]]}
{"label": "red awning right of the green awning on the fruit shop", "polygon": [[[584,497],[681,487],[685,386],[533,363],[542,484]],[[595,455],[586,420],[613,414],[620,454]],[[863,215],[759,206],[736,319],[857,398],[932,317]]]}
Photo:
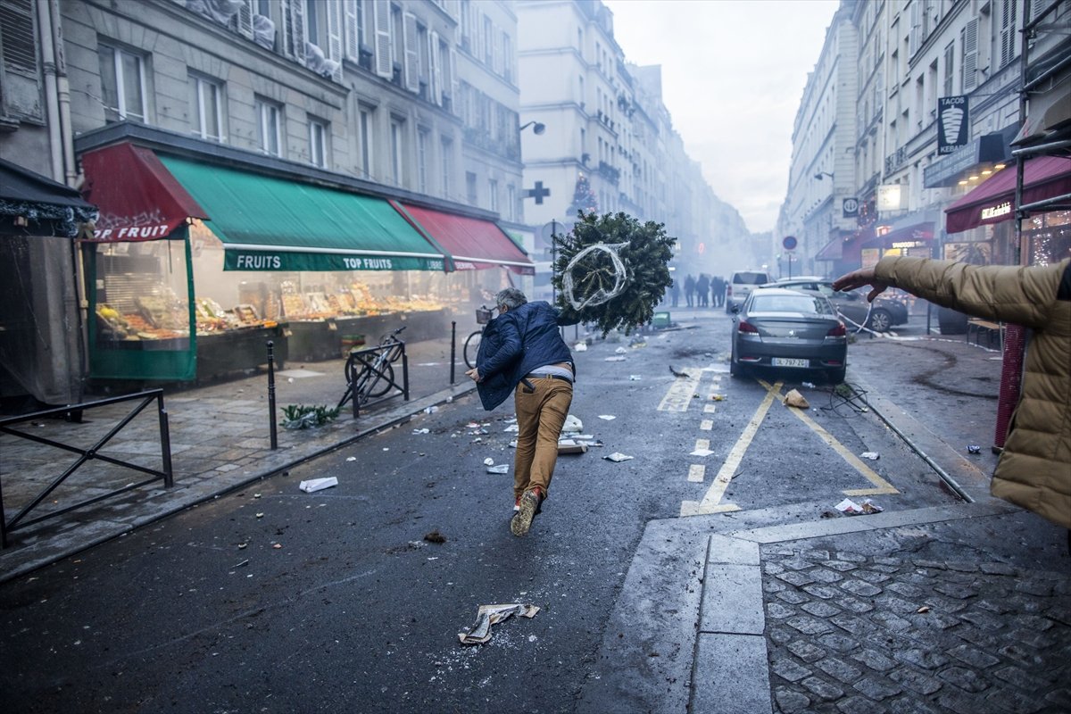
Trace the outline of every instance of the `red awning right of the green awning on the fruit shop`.
{"label": "red awning right of the green awning on the fruit shop", "polygon": [[391,201],[425,238],[452,259],[454,270],[481,270],[502,265],[521,275],[534,275],[528,255],[491,221],[444,213],[411,203]]}

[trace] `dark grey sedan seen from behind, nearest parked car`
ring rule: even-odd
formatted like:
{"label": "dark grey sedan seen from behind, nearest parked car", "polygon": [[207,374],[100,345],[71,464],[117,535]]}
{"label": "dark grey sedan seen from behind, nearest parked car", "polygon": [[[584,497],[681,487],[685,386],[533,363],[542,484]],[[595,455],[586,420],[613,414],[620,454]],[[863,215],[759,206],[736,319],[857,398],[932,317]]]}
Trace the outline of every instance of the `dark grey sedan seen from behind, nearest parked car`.
{"label": "dark grey sedan seen from behind, nearest parked car", "polygon": [[751,291],[734,310],[729,374],[755,368],[820,373],[831,382],[844,381],[848,336],[828,299],[787,288]]}

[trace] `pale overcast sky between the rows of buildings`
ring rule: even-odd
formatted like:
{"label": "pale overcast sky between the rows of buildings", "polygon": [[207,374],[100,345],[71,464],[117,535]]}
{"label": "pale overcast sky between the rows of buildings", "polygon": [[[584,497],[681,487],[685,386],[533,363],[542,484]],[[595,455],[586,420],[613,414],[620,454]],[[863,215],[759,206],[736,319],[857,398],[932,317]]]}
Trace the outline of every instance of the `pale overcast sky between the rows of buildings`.
{"label": "pale overcast sky between the rows of buildings", "polygon": [[625,59],[662,65],[689,155],[752,232],[772,230],[793,121],[838,0],[604,0]]}

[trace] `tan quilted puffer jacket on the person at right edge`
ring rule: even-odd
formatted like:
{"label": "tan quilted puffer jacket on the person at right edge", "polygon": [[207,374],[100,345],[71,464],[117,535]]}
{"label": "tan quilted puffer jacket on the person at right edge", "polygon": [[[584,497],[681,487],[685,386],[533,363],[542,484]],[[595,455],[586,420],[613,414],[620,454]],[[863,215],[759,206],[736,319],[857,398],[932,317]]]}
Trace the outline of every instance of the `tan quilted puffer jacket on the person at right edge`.
{"label": "tan quilted puffer jacket on the person at right edge", "polygon": [[883,258],[875,273],[937,305],[1034,331],[991,490],[1071,529],[1071,259],[1023,268]]}

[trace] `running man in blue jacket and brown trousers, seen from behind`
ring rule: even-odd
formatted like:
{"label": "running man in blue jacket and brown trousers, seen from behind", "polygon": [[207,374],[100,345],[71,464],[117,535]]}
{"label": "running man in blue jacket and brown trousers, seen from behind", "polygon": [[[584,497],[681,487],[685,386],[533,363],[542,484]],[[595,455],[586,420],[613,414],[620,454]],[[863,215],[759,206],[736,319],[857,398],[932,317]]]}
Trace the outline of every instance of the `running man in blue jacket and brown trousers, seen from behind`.
{"label": "running man in blue jacket and brown trousers, seen from behind", "polygon": [[550,488],[558,436],[573,401],[576,365],[558,330],[571,323],[548,303],[528,302],[516,288],[499,291],[495,304],[499,315],[484,328],[476,367],[465,374],[487,411],[513,392],[517,449],[510,530],[526,535]]}

